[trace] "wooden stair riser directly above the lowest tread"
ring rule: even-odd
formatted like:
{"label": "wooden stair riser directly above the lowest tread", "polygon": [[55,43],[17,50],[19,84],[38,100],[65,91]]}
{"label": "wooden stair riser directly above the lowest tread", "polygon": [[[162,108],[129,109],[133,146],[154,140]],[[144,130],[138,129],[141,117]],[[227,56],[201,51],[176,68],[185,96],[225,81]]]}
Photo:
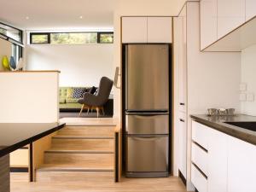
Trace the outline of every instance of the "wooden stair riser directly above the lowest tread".
{"label": "wooden stair riser directly above the lowest tread", "polygon": [[45,164],[84,164],[84,165],[102,165],[113,166],[113,153],[100,153],[94,151],[46,151],[44,153]]}

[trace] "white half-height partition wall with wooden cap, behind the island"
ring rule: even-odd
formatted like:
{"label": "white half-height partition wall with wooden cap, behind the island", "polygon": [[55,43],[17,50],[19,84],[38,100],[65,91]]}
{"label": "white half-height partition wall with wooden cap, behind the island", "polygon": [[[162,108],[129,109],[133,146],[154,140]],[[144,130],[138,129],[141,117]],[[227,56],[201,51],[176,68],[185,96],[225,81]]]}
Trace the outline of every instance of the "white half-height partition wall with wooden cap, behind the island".
{"label": "white half-height partition wall with wooden cap, behind the island", "polygon": [[59,73],[0,73],[0,123],[59,121]]}

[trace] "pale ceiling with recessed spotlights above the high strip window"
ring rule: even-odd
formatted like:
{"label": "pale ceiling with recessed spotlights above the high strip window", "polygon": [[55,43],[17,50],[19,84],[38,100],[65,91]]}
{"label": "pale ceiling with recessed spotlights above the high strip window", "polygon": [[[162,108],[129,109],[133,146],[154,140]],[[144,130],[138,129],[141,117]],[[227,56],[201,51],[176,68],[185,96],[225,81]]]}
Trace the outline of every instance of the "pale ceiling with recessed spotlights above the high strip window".
{"label": "pale ceiling with recessed spotlights above the high strip window", "polygon": [[137,3],[150,6],[150,1],[180,9],[177,3],[185,0],[0,0],[0,20],[25,30],[112,29],[117,4],[136,9]]}

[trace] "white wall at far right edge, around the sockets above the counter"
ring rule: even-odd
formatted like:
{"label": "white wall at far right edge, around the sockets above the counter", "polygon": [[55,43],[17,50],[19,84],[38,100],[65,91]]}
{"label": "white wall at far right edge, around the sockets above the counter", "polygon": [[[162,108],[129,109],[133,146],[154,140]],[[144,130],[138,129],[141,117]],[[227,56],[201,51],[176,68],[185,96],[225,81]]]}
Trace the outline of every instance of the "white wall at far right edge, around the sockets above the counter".
{"label": "white wall at far right edge, around the sockets above the counter", "polygon": [[241,51],[241,83],[247,84],[245,94],[253,94],[253,102],[241,102],[241,113],[256,116],[256,44]]}

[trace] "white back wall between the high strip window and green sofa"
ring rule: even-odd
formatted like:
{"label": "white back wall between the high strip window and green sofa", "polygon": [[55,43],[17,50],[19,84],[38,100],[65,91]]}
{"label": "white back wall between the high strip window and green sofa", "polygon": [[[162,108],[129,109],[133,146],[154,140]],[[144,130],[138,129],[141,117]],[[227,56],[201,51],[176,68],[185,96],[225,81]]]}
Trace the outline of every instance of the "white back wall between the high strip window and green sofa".
{"label": "white back wall between the high strip window and green sofa", "polygon": [[113,44],[27,45],[26,69],[59,70],[60,86],[98,86],[102,76],[113,79]]}

